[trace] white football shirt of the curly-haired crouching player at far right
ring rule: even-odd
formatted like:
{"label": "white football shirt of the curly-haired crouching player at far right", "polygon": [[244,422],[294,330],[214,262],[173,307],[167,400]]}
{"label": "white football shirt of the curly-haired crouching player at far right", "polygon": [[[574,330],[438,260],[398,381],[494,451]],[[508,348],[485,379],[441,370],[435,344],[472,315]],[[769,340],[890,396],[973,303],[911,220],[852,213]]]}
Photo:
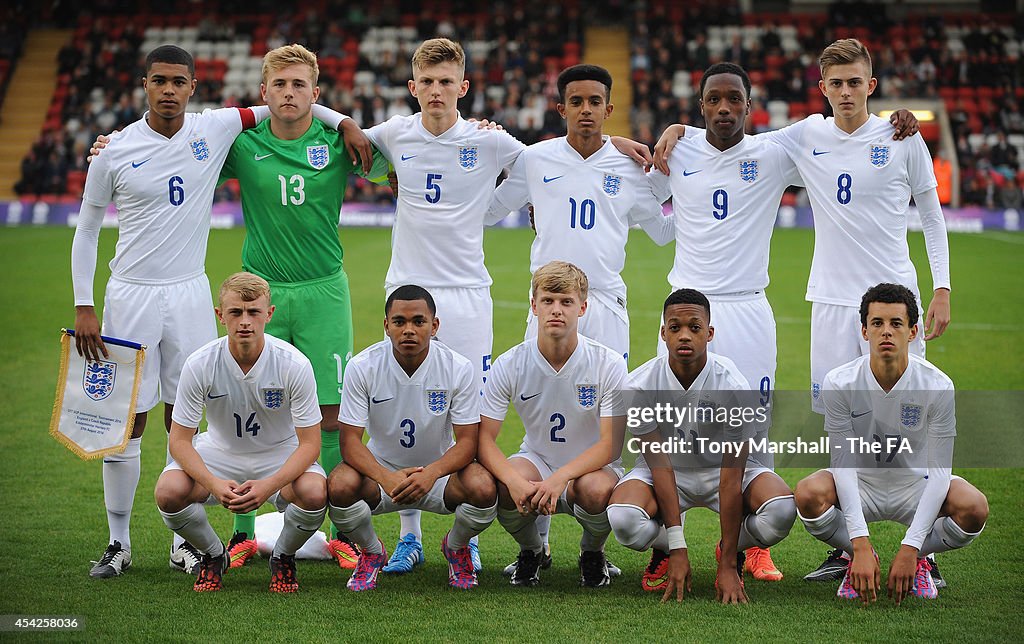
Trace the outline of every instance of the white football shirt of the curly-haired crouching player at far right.
{"label": "white football shirt of the curly-haired crouching player at far right", "polygon": [[[929,441],[956,435],[953,398],[949,377],[912,353],[906,372],[888,393],[871,373],[870,355],[831,370],[822,383],[821,399],[829,442],[843,441],[839,452],[833,449],[833,464],[858,465],[861,478],[927,476]],[[879,443],[881,452],[851,450],[847,438]]]}

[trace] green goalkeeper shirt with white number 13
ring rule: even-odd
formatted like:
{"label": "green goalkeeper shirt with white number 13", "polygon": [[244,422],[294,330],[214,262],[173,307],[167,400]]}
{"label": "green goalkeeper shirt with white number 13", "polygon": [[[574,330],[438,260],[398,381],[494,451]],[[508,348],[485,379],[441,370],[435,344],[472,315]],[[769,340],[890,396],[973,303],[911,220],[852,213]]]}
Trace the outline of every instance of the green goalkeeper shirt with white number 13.
{"label": "green goalkeeper shirt with white number 13", "polygon": [[[367,176],[387,183],[388,161],[376,148]],[[269,282],[306,282],[342,268],[341,204],[352,165],[341,133],[313,119],[294,140],[278,138],[267,119],[234,139],[220,180],[242,186],[246,240],[242,265]]]}

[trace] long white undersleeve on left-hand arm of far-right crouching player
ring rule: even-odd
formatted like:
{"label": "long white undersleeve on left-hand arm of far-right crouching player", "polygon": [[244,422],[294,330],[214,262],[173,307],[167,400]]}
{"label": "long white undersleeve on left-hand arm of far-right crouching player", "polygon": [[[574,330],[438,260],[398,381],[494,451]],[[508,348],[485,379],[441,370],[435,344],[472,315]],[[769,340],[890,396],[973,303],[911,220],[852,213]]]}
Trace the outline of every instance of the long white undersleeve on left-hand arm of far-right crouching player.
{"label": "long white undersleeve on left-hand arm of far-right crouching player", "polygon": [[860,504],[860,489],[857,480],[855,456],[851,452],[848,438],[855,437],[850,404],[843,392],[836,389],[829,377],[821,385],[821,400],[825,407],[825,432],[831,453],[829,471],[836,481],[836,496],[846,518],[850,539],[867,536],[867,521]]}

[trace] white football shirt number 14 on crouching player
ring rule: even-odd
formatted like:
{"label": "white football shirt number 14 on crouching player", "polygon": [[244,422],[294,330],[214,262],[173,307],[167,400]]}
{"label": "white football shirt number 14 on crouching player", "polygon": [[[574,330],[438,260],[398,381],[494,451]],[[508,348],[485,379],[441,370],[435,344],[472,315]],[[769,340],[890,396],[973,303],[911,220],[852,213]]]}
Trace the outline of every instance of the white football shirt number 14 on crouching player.
{"label": "white football shirt number 14 on crouching player", "polygon": [[228,351],[226,336],[189,355],[174,399],[174,422],[199,427],[205,407],[210,440],[225,450],[253,454],[298,445],[295,428],[323,420],[313,368],[292,345],[264,337],[248,374]]}

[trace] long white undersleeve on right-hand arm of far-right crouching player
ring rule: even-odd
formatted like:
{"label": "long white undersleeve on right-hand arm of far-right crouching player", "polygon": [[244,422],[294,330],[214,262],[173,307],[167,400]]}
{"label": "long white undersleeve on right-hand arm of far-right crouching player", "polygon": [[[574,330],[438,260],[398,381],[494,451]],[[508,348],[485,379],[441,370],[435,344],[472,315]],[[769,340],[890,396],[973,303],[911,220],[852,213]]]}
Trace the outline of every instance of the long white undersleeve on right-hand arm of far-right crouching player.
{"label": "long white undersleeve on right-hand arm of far-right crouching player", "polygon": [[956,435],[956,409],[953,390],[937,393],[938,400],[930,412],[926,432],[928,439],[928,482],[918,501],[913,521],[907,528],[902,543],[921,549],[925,538],[932,530],[932,524],[939,516],[939,510],[949,492],[952,475],[953,440]]}

